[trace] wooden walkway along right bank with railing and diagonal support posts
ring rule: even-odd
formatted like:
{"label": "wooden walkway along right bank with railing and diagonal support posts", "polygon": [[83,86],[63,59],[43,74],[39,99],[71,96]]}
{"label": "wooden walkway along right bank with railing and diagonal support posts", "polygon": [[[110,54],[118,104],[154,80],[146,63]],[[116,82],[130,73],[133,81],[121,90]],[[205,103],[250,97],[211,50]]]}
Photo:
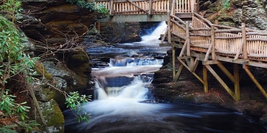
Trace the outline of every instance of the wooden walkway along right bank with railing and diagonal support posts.
{"label": "wooden walkway along right bank with railing and diagonal support posts", "polygon": [[[215,25],[196,12],[193,12],[192,16],[192,21],[189,23],[182,21],[171,11],[168,12],[168,29],[161,43],[168,36],[168,43],[173,48],[174,81],[178,80],[185,67],[204,85],[204,93],[207,93],[207,72],[209,71],[231,97],[239,101],[238,64],[241,64],[244,71],[267,98],[266,91],[249,71],[249,67],[260,67],[266,72],[267,31],[246,28],[244,23],[239,28]],[[182,48],[179,57],[175,56],[176,48]],[[177,71],[175,70],[176,60],[182,64]],[[200,61],[203,65],[203,77],[195,73]],[[224,67],[225,62],[233,63],[233,74]],[[233,91],[212,69],[212,65],[217,65],[233,82]]]}

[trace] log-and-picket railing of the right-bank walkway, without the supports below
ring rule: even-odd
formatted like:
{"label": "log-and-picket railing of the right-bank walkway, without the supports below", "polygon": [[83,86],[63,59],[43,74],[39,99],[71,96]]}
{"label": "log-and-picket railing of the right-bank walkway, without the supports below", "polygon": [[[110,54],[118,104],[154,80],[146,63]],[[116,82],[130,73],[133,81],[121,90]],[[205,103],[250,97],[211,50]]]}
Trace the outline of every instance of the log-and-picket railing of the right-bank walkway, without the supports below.
{"label": "log-and-picket railing of the right-bank walkway, without the supports below", "polygon": [[185,42],[182,52],[189,46],[190,50],[205,52],[206,61],[210,53],[213,60],[216,60],[217,55],[227,55],[232,56],[233,60],[267,61],[267,31],[245,28],[244,23],[239,28],[214,25],[193,12],[192,26],[187,36],[186,22],[174,15],[170,15],[169,19],[171,34]]}

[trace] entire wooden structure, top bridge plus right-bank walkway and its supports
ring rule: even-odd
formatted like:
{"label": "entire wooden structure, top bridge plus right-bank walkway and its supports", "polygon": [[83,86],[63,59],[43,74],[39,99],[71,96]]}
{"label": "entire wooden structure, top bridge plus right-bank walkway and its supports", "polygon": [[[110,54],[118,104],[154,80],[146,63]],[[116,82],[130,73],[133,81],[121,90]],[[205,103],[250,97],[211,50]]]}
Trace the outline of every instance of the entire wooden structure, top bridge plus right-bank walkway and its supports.
{"label": "entire wooden structure, top bridge plus right-bank walkway and its supports", "polygon": [[[168,28],[161,44],[167,38],[172,46],[174,82],[178,80],[185,67],[203,84],[204,93],[207,93],[207,71],[209,71],[231,97],[239,101],[238,65],[241,64],[244,71],[267,98],[266,91],[249,70],[249,67],[259,67],[267,75],[267,31],[246,28],[244,23],[238,28],[212,24],[198,14],[198,0],[98,1],[98,4],[103,4],[109,9],[111,16],[103,21],[168,21]],[[142,17],[144,15],[145,17]],[[177,48],[182,49],[179,57],[175,56]],[[176,60],[181,63],[177,71]],[[196,74],[200,61],[203,65],[203,77]],[[224,67],[224,63],[233,64],[233,74]],[[233,82],[233,89],[230,89],[212,69],[212,65],[217,65]]]}

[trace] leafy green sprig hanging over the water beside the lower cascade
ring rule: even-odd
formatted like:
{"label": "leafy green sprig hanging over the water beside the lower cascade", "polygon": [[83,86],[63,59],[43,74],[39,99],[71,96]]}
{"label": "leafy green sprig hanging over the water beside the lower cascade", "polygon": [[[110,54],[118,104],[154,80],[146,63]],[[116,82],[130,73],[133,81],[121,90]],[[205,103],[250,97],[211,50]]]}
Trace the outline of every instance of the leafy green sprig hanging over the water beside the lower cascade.
{"label": "leafy green sprig hanging over the water beside the lower cascade", "polygon": [[91,100],[90,98],[91,95],[89,96],[79,95],[78,92],[71,92],[66,98],[65,104],[67,105],[67,108],[70,108],[71,110],[75,111],[78,122],[80,121],[89,122],[91,114],[85,112],[85,110],[82,108],[82,105],[87,103],[88,100]]}

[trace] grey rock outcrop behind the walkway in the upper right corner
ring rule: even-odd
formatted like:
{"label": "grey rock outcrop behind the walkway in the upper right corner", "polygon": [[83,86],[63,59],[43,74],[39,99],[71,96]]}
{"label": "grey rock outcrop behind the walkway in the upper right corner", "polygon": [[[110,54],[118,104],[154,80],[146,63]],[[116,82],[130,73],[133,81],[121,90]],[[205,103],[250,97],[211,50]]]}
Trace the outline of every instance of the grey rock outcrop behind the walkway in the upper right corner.
{"label": "grey rock outcrop behind the walkway in the upper right corner", "polygon": [[238,27],[242,22],[252,29],[267,30],[266,0],[231,0],[229,9],[223,9],[220,0],[202,0],[201,14],[221,25]]}

